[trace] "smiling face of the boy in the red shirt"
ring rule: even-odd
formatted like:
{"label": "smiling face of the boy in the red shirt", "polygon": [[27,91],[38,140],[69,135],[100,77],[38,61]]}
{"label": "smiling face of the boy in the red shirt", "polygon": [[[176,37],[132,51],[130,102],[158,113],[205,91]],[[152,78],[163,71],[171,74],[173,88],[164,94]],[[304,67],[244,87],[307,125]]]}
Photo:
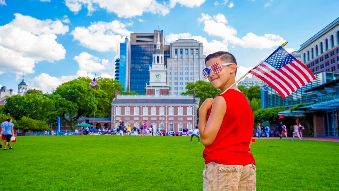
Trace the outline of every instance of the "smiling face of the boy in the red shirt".
{"label": "smiling face of the boy in the red shirt", "polygon": [[[214,63],[225,63],[220,59],[220,57],[217,58],[211,58],[206,62],[206,67],[211,66]],[[235,70],[237,69],[236,64],[232,65],[223,65],[221,66],[222,70],[215,74],[210,70],[210,76],[208,76],[208,80],[213,84],[214,88],[216,89],[222,89],[223,86],[230,80],[231,75],[234,75]]]}

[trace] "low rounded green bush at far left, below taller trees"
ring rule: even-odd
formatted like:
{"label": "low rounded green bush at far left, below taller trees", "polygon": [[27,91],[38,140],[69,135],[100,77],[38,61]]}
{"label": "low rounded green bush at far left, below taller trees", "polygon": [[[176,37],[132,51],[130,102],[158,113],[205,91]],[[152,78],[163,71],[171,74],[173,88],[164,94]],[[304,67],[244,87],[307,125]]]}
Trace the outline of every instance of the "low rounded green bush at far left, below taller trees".
{"label": "low rounded green bush at far left, below taller trees", "polygon": [[22,117],[15,125],[16,129],[43,131],[50,129],[45,121],[35,120],[29,117]]}

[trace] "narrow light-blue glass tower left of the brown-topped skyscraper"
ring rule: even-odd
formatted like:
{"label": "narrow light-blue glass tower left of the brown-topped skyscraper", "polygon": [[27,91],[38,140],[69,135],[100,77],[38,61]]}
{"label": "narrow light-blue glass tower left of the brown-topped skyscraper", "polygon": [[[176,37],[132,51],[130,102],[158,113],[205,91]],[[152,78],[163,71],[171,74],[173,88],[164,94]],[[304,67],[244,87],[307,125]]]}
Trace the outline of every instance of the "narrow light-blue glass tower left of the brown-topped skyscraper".
{"label": "narrow light-blue glass tower left of the brown-topped skyscraper", "polygon": [[123,43],[120,43],[120,63],[119,63],[119,79],[117,79],[124,87],[125,91],[129,90],[129,40],[126,37]]}

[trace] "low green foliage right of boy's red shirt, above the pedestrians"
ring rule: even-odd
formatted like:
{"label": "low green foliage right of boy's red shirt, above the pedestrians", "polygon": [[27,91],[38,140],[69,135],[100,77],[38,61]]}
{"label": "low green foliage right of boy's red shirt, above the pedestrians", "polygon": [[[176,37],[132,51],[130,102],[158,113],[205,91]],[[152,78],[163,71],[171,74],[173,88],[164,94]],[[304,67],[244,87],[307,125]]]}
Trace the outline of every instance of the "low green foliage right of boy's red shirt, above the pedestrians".
{"label": "low green foliage right of boy's red shirt, above the pedestrians", "polygon": [[283,107],[265,108],[256,110],[255,112],[253,112],[254,123],[255,124],[259,123],[262,120],[278,122],[279,121],[278,113],[285,110],[286,108]]}

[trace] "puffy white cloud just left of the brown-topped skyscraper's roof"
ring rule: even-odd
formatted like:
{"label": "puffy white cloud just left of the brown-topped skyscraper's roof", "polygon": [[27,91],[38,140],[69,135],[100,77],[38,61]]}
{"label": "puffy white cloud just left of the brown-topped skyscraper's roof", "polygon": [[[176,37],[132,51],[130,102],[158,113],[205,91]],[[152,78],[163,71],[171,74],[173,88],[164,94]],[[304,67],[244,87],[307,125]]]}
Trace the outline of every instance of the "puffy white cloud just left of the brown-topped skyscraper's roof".
{"label": "puffy white cloud just left of the brown-topped skyscraper's roof", "polygon": [[82,46],[99,52],[117,51],[117,44],[129,36],[126,25],[120,21],[92,23],[88,27],[76,27],[71,34]]}

